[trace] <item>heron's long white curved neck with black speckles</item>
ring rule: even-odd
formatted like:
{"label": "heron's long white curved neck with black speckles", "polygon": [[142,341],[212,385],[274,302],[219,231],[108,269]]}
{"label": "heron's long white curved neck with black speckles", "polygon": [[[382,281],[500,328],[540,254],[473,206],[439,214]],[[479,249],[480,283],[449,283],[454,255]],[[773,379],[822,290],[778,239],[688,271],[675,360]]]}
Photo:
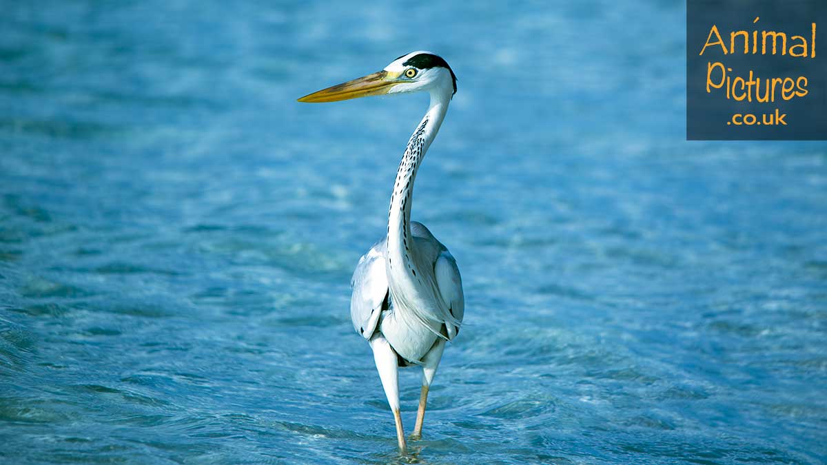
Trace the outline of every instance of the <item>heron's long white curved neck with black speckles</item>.
{"label": "heron's long white curved neck with black speckles", "polygon": [[396,171],[394,191],[390,196],[390,210],[388,211],[388,259],[387,271],[394,276],[390,281],[391,293],[399,299],[404,299],[403,289],[412,289],[412,281],[422,279],[418,263],[414,260],[414,241],[411,237],[411,204],[414,200],[414,180],[419,165],[425,157],[425,152],[431,146],[434,137],[437,137],[439,127],[448,110],[452,93],[436,89],[431,92],[431,105],[428,112],[419,122],[416,131],[411,135],[408,146],[405,148],[399,170]]}

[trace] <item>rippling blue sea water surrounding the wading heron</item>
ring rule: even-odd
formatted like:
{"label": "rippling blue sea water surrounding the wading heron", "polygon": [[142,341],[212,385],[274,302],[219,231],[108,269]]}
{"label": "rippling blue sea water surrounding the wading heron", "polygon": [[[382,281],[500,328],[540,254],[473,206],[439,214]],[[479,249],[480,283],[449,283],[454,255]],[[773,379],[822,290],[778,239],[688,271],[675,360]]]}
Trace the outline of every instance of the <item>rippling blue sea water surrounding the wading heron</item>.
{"label": "rippling blue sea water surrounding the wading heron", "polygon": [[[827,145],[686,142],[681,2],[3,2],[3,463],[825,463]],[[466,324],[395,451],[349,280],[413,218]],[[419,374],[401,376],[413,427]]]}

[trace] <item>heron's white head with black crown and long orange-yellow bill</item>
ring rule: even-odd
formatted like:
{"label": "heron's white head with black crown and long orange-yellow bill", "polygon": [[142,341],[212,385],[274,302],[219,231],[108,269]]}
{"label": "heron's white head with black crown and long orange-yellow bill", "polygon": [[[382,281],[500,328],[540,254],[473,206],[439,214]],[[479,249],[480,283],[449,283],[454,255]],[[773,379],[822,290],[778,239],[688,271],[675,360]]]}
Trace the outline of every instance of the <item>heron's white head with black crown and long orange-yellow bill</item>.
{"label": "heron's white head with black crown and long orange-yellow bill", "polygon": [[441,56],[428,51],[402,55],[384,70],[305,95],[299,102],[338,102],[385,93],[428,91],[451,98],[457,93],[457,76]]}

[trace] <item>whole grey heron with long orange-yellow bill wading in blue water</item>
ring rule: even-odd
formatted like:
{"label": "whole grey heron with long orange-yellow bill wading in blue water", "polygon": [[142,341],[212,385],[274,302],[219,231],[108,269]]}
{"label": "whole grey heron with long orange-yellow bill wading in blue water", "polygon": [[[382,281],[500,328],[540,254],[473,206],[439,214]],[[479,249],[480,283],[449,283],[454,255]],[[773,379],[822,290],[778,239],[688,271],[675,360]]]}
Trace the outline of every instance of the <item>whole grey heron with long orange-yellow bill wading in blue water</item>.
{"label": "whole grey heron with long orange-yellow bill wading in blue water", "polygon": [[351,280],[353,328],[373,350],[402,453],[406,444],[399,413],[398,368],[423,368],[419,408],[411,435],[411,439],[419,439],[428,388],[445,343],[457,336],[465,313],[457,261],[428,228],[410,220],[417,170],[457,93],[457,77],[441,57],[414,51],[377,73],[299,98],[299,102],[307,103],[337,102],[419,91],[430,93],[431,103],[411,135],[396,171],[387,235],[361,257]]}

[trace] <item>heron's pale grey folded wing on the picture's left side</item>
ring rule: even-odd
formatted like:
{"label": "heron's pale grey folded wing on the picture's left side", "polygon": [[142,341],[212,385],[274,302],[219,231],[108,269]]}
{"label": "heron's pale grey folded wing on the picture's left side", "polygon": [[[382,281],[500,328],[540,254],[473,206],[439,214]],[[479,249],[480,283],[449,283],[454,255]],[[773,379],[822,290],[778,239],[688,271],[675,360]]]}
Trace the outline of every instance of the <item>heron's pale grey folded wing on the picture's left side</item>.
{"label": "heron's pale grey folded wing on the picture's left side", "polygon": [[351,286],[351,322],[356,333],[370,339],[382,314],[388,295],[388,276],[385,273],[386,242],[377,242],[359,259],[353,271]]}

